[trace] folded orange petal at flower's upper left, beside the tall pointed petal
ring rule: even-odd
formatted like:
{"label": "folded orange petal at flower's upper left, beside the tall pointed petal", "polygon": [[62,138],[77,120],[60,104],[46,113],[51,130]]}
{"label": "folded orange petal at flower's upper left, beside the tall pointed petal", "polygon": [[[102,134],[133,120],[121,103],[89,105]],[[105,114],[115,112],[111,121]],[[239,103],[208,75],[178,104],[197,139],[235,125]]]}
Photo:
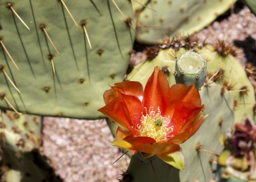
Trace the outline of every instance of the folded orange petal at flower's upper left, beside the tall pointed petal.
{"label": "folded orange petal at flower's upper left, beside the tall pointed petal", "polygon": [[116,83],[115,86],[120,88],[120,91],[125,95],[134,95],[142,100],[143,97],[143,87],[139,82],[120,82]]}

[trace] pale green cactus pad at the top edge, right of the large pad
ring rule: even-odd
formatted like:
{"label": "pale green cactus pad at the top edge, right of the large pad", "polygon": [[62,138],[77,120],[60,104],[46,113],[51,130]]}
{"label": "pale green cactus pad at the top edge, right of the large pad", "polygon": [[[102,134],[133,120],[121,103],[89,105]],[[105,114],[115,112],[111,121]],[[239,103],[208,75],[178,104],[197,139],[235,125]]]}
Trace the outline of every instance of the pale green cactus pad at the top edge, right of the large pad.
{"label": "pale green cactus pad at the top edge, right of the large pad", "polygon": [[[253,0],[252,0],[253,1]],[[236,1],[179,0],[147,1],[138,15],[137,40],[143,43],[163,43],[177,34],[190,35],[204,28]],[[137,4],[136,1],[133,4]],[[139,12],[136,6],[136,12]]]}

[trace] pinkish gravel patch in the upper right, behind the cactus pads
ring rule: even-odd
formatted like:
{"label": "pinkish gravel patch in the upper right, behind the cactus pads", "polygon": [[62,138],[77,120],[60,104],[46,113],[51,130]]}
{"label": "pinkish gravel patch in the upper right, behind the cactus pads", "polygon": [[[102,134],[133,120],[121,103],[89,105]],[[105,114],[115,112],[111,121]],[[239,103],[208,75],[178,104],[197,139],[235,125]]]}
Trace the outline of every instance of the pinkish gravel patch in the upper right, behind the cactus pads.
{"label": "pinkish gravel patch in the upper right, behind the cactus pads", "polygon": [[241,63],[250,61],[256,64],[256,17],[247,7],[221,22],[215,21],[196,35],[208,43],[220,39],[233,44],[242,53],[238,57]]}

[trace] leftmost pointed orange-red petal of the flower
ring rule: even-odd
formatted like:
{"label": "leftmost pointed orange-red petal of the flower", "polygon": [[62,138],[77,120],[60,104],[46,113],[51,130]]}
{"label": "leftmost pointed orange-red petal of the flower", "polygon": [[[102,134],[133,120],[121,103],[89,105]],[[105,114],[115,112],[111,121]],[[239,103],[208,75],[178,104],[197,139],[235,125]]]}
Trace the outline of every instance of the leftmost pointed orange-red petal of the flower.
{"label": "leftmost pointed orange-red petal of the flower", "polygon": [[100,108],[98,111],[125,128],[133,129],[131,119],[126,115],[119,98],[113,99],[108,105]]}

